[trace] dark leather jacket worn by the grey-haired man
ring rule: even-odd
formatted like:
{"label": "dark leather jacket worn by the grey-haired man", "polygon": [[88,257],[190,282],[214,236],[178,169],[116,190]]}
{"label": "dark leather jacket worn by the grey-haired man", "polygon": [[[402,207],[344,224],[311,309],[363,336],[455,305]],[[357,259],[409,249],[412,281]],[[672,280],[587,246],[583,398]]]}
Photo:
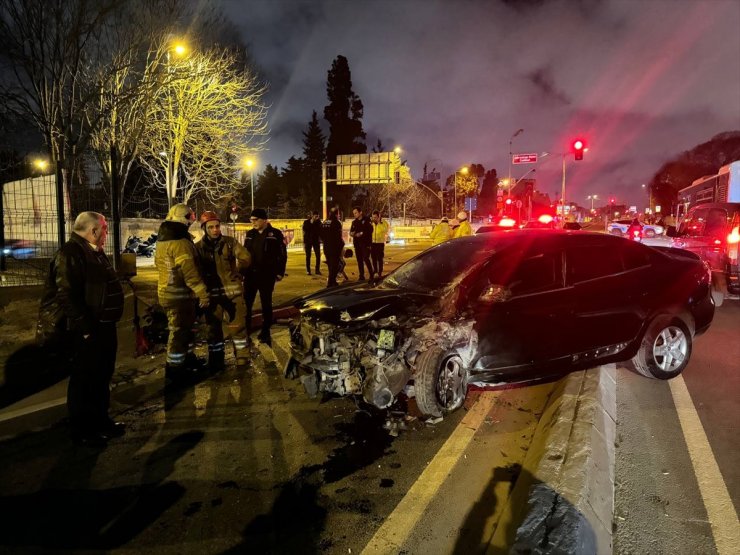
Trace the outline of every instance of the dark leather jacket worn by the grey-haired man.
{"label": "dark leather jacket worn by the grey-haired man", "polygon": [[99,323],[118,322],[123,288],[102,250],[73,233],[51,262],[39,318],[40,338],[73,330],[90,334]]}

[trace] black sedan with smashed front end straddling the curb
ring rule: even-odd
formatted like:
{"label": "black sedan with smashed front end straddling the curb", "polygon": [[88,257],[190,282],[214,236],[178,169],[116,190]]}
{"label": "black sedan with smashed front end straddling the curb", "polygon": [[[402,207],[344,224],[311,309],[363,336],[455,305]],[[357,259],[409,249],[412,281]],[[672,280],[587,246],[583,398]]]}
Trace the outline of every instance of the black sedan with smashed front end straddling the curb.
{"label": "black sedan with smashed front end straddling the curb", "polygon": [[710,283],[692,253],[603,233],[478,234],[427,249],[376,286],[298,299],[286,376],[303,373],[310,395],[379,408],[406,390],[434,416],[459,408],[470,384],[608,362],[668,379],[712,321]]}

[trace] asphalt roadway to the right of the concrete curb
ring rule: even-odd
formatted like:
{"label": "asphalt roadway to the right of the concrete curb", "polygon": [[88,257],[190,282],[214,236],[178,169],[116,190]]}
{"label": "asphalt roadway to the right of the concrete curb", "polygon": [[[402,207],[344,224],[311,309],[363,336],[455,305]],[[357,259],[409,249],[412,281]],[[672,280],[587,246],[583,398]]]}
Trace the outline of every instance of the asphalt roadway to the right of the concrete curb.
{"label": "asphalt roadway to the right of the concrete curb", "polygon": [[[738,536],[739,334],[740,303],[725,301],[682,374],[688,398],[678,378],[620,368],[615,553],[737,553],[716,543]],[[679,418],[692,407],[693,427]]]}

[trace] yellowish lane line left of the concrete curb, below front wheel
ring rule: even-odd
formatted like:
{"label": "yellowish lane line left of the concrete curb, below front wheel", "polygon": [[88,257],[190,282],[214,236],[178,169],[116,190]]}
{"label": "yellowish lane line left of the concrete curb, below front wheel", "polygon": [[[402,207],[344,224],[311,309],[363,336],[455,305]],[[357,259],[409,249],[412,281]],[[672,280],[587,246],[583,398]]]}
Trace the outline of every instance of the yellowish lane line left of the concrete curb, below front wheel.
{"label": "yellowish lane line left of the concrete curb, below front wheel", "polygon": [[447,479],[473,436],[493,408],[498,398],[496,393],[483,393],[447,438],[424,472],[409,488],[383,525],[375,532],[362,553],[392,553],[404,545],[427,506]]}

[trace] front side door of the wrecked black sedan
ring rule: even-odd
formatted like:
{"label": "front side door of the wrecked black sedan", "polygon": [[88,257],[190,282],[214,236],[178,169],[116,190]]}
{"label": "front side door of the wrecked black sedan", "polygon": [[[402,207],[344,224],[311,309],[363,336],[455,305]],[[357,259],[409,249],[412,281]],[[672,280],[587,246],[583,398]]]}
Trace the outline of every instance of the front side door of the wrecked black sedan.
{"label": "front side door of the wrecked black sedan", "polygon": [[[572,294],[564,286],[563,254],[556,244],[494,257],[477,280],[471,291],[479,369],[511,380],[563,356],[561,335],[572,317]],[[492,293],[499,298],[487,298]]]}

